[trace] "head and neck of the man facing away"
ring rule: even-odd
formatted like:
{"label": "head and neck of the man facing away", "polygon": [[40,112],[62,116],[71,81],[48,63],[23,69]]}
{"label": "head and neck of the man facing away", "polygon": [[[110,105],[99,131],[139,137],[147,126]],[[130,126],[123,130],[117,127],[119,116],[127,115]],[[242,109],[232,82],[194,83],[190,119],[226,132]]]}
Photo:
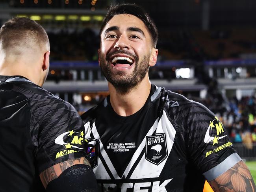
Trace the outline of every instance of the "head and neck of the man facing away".
{"label": "head and neck of the man facing away", "polygon": [[0,75],[24,76],[42,86],[49,71],[50,43],[29,18],[12,18],[0,29]]}

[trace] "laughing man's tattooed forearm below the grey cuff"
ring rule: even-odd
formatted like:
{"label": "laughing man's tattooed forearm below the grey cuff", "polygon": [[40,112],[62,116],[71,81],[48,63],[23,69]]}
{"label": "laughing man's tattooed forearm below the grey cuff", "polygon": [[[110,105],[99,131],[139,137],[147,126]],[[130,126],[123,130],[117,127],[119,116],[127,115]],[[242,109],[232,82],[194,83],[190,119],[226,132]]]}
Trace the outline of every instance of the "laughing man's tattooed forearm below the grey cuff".
{"label": "laughing man's tattooed forearm below the grey cuff", "polygon": [[243,161],[209,182],[214,192],[256,192],[252,175]]}

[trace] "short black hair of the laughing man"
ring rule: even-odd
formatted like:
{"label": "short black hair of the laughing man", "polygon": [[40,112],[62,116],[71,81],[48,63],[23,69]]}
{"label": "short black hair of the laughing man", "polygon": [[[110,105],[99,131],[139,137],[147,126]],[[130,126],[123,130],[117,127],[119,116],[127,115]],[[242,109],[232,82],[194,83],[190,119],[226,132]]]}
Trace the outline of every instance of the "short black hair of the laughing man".
{"label": "short black hair of the laughing man", "polygon": [[136,4],[115,4],[111,5],[110,8],[108,9],[108,13],[106,14],[106,17],[104,18],[101,28],[100,28],[100,35],[102,33],[102,30],[106,26],[106,24],[113,18],[115,15],[121,15],[121,14],[129,14],[129,15],[134,15],[135,17],[139,18],[140,20],[143,21],[145,26],[148,29],[148,32],[151,35],[152,38],[152,43],[154,47],[156,47],[157,41],[158,41],[158,30],[156,28],[156,24],[150,18],[148,13],[146,11],[137,6]]}

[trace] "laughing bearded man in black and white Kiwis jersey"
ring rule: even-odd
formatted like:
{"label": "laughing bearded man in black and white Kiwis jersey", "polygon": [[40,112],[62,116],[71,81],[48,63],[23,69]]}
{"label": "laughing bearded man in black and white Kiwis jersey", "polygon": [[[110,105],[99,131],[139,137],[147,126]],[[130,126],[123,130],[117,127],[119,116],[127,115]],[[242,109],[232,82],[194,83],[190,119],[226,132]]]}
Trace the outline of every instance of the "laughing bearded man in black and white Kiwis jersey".
{"label": "laughing bearded man in black and white Kiwis jersey", "polygon": [[102,191],[255,191],[223,124],[204,105],[152,85],[157,30],[134,4],[112,6],[100,30],[109,96],[82,115]]}

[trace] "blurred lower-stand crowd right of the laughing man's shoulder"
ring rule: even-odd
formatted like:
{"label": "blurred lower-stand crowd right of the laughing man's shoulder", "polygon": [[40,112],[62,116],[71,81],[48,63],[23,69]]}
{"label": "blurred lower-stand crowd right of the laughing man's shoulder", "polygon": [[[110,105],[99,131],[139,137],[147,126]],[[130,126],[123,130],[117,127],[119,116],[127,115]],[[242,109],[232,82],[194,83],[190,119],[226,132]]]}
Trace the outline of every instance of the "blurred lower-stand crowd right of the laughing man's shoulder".
{"label": "blurred lower-stand crowd right of the laughing man's shoulder", "polygon": [[227,99],[220,92],[210,92],[201,100],[223,123],[234,143],[245,143],[252,147],[256,142],[256,91],[252,96]]}

